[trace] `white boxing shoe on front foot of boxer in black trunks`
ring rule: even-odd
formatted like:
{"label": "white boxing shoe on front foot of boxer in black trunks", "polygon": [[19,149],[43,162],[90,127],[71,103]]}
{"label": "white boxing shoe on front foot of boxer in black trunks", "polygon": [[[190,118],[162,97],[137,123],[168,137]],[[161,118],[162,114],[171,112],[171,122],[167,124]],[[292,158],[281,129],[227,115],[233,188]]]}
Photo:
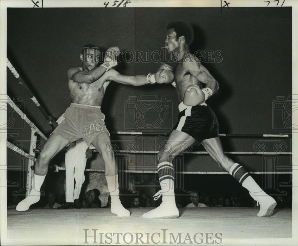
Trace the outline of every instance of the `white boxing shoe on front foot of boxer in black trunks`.
{"label": "white boxing shoe on front foot of boxer in black trunks", "polygon": [[175,219],[179,217],[179,210],[176,207],[176,204],[164,203],[160,204],[159,207],[150,210],[149,212],[142,215],[143,218],[168,218]]}

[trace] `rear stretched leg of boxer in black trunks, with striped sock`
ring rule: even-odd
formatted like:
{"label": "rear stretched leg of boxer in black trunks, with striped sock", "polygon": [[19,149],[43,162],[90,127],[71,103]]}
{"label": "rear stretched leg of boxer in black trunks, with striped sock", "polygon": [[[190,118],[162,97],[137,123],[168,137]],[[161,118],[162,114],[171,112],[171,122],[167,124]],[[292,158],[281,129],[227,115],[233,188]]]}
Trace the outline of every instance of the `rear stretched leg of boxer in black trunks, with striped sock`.
{"label": "rear stretched leg of boxer in black trunks, with striped sock", "polygon": [[202,145],[215,162],[217,162],[222,169],[229,172],[240,184],[242,184],[244,188],[249,191],[252,198],[260,203],[260,211],[257,216],[271,216],[276,206],[276,201],[260,188],[244,167],[233,162],[225,155],[219,138],[215,137],[205,139],[202,141]]}

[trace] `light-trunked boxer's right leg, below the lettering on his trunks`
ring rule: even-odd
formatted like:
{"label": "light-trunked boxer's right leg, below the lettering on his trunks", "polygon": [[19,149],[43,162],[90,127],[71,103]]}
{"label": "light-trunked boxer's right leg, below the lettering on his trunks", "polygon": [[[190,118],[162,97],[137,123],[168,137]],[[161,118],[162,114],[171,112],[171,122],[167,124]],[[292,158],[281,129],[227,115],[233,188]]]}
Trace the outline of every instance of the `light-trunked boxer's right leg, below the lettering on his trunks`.
{"label": "light-trunked boxer's right leg, below the lettering on his trunks", "polygon": [[117,216],[129,216],[130,212],[125,209],[119,199],[119,183],[114,152],[109,148],[110,136],[104,131],[97,135],[92,141],[92,145],[102,154],[105,163],[105,178],[108,190],[111,195],[111,212]]}

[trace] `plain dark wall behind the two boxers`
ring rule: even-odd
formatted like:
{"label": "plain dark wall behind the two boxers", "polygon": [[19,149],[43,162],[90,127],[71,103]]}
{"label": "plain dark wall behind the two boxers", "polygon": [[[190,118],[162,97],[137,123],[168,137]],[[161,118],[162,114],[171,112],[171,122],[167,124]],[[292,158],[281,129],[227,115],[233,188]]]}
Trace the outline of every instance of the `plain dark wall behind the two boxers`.
{"label": "plain dark wall behind the two boxers", "polygon": [[[231,8],[222,14],[217,8],[150,8],[150,11],[146,8],[44,8],[42,11],[8,8],[7,57],[49,115],[57,119],[70,104],[66,70],[81,65],[79,53],[84,43],[94,43],[102,50],[117,45],[122,51],[162,51],[165,27],[175,19],[187,20],[194,27],[191,52],[222,51],[221,62],[203,62],[220,84],[218,93],[207,101],[218,116],[220,133],[290,131],[284,121],[291,123],[285,110],[292,93],[291,7]],[[147,74],[156,71],[159,65],[124,62],[120,57],[117,70],[127,75]],[[7,94],[21,101],[24,112],[41,131],[51,130],[8,69]],[[111,132],[134,130],[131,128],[138,116],[127,110],[126,105],[130,96],[136,96],[139,101],[142,94],[155,95],[158,103],[165,97],[170,105],[170,114],[154,131],[168,131],[176,123],[178,101],[170,85],[132,87],[112,82],[102,105]],[[274,108],[277,97],[284,97],[279,103],[280,109]],[[164,101],[159,105],[164,110]],[[156,114],[151,111],[144,117],[150,122],[156,119]],[[11,117],[15,118],[7,131],[8,141],[19,143],[29,152],[30,127],[23,124],[18,115],[9,112],[8,118]],[[137,150],[159,150],[166,137],[112,135],[111,139],[117,141],[119,149],[136,141]],[[254,151],[255,142],[263,139],[222,141],[225,151]],[[291,151],[291,141],[282,141],[286,146],[284,151]],[[273,151],[271,147],[268,146],[267,151]],[[130,158],[130,163],[136,165],[154,165],[155,160],[152,155],[130,155]],[[232,158],[249,170],[262,171],[260,155]],[[291,164],[290,156],[278,158],[279,164]],[[91,166],[101,168],[102,164],[98,163],[101,161]],[[8,150],[7,164],[21,165],[20,156]],[[219,170],[209,156],[186,155],[185,169]]]}

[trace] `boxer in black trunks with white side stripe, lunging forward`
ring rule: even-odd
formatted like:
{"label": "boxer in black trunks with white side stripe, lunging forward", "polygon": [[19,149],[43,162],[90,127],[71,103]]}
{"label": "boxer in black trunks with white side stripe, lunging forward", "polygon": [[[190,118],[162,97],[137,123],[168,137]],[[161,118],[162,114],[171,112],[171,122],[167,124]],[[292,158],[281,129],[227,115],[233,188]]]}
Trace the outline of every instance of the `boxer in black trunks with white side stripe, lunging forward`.
{"label": "boxer in black trunks with white side stripe, lunging forward", "polygon": [[[271,216],[276,206],[273,198],[268,196],[253,180],[248,172],[238,163],[229,159],[218,138],[218,122],[215,113],[205,101],[215,93],[219,86],[209,71],[189,52],[193,42],[193,27],[186,21],[173,21],[167,26],[165,47],[177,58],[175,68],[164,64],[167,70],[164,81],[159,81],[160,75],[148,74],[139,76],[139,80],[148,82],[171,83],[176,87],[179,104],[179,121],[171,132],[165,148],[158,153],[158,175],[161,190],[155,194],[162,195],[159,207],[145,213],[145,218],[177,218],[179,211],[175,203],[174,168],[171,163],[174,156],[190,147],[195,141],[201,143],[215,162],[229,172],[250,195],[260,203],[258,217]],[[158,76],[157,76],[158,75]],[[174,77],[174,82],[171,80]],[[120,79],[128,82],[122,76]],[[170,151],[167,151],[170,149]],[[155,198],[155,199],[156,199]]]}

